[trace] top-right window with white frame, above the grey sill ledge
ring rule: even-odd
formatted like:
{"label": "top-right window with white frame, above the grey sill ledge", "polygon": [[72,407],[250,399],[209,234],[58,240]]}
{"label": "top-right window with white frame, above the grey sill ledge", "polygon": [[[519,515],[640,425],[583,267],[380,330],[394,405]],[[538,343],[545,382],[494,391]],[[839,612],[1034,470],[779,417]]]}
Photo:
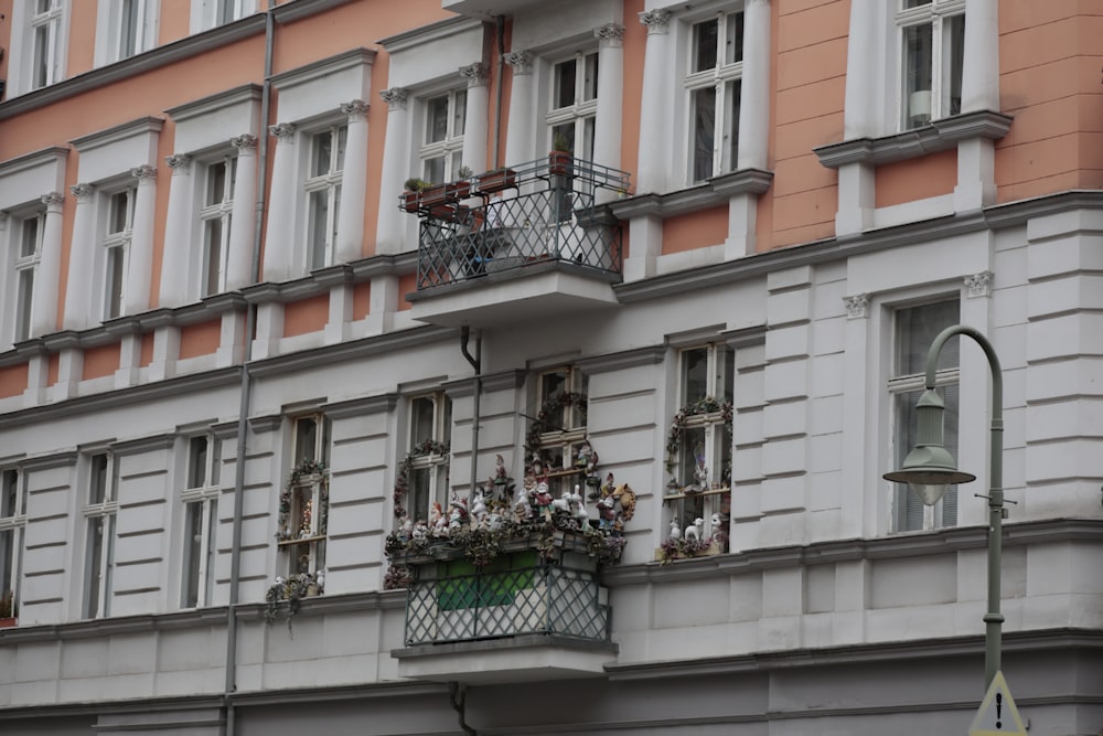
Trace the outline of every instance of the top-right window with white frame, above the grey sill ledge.
{"label": "top-right window with white frame, above the grey sill ledge", "polygon": [[901,129],[961,113],[965,0],[900,0]]}

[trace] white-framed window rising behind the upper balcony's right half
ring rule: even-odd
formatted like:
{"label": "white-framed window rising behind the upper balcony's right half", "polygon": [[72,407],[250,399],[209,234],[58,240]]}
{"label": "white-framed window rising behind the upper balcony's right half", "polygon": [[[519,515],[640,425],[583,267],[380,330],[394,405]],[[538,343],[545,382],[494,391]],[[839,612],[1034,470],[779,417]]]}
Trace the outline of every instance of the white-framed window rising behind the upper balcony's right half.
{"label": "white-framed window rising behind the upper balcony's right half", "polygon": [[592,160],[597,115],[597,52],[579,53],[553,64],[552,100],[547,114],[549,148]]}

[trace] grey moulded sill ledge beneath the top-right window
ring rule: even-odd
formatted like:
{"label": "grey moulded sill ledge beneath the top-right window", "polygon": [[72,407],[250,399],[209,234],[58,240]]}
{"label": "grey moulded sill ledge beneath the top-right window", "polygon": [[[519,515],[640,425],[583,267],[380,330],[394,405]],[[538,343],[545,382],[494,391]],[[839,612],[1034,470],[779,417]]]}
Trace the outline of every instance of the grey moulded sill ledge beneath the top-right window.
{"label": "grey moulded sill ledge beneath the top-right window", "polygon": [[881,166],[950,150],[972,138],[999,140],[1011,127],[1011,117],[992,110],[955,115],[914,130],[884,138],[855,138],[813,149],[820,163],[838,169],[848,163]]}

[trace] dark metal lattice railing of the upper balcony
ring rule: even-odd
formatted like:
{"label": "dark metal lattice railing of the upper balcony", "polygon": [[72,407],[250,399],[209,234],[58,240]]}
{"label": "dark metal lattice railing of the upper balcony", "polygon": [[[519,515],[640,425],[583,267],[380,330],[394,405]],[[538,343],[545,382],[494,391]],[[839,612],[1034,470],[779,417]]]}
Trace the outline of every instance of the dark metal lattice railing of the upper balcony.
{"label": "dark metal lattice railing of the upper balcony", "polygon": [[417,288],[537,264],[619,274],[621,227],[603,203],[628,186],[623,171],[552,153],[407,192],[403,209],[421,220]]}

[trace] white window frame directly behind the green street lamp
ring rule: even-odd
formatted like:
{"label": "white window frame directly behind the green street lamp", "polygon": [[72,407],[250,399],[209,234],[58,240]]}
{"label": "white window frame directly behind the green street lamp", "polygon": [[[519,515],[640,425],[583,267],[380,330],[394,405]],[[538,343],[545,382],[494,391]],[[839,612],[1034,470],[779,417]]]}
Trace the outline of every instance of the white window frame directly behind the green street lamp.
{"label": "white window frame directly behind the green street lamp", "polygon": [[[892,451],[890,457],[893,458],[893,468],[899,468],[901,462],[903,462],[903,458],[911,450],[911,447],[907,441],[908,431],[906,423],[908,422],[909,414],[914,413],[915,402],[924,390],[927,383],[927,348],[929,348],[929,344],[923,346],[922,355],[918,356],[918,364],[913,365],[914,372],[906,373],[906,369],[901,366],[901,362],[907,335],[902,333],[900,328],[900,316],[909,309],[934,308],[936,306],[949,305],[951,302],[957,306],[959,317],[943,326],[950,327],[951,324],[956,324],[961,319],[961,301],[955,298],[935,299],[918,305],[901,305],[891,312],[892,363],[890,367],[890,375],[886,383],[886,390],[889,395],[889,410],[891,413],[890,426],[892,428]],[[931,340],[933,340],[940,331],[941,329],[931,330]],[[940,364],[954,355],[952,351],[956,350],[957,342],[959,341],[954,341],[953,346],[947,344],[943,348],[942,353],[940,354]],[[939,369],[934,374],[934,385],[940,390],[939,394],[942,396],[943,401],[946,402],[944,422],[949,422],[953,416],[957,415],[957,408],[953,406],[952,399],[949,399],[946,396],[946,387],[959,386],[960,384],[960,358],[956,365]],[[953,434],[956,435],[956,431]],[[950,436],[950,433],[947,433],[947,440]],[[946,447],[950,449],[951,454],[956,457],[957,448],[949,441]],[[904,483],[895,483],[892,498],[893,532],[932,531],[943,526],[955,526],[957,524],[956,486],[949,487],[943,498],[933,506],[923,505],[923,503],[908,490],[908,487]],[[920,511],[922,512],[921,524],[918,523],[918,514]]]}

